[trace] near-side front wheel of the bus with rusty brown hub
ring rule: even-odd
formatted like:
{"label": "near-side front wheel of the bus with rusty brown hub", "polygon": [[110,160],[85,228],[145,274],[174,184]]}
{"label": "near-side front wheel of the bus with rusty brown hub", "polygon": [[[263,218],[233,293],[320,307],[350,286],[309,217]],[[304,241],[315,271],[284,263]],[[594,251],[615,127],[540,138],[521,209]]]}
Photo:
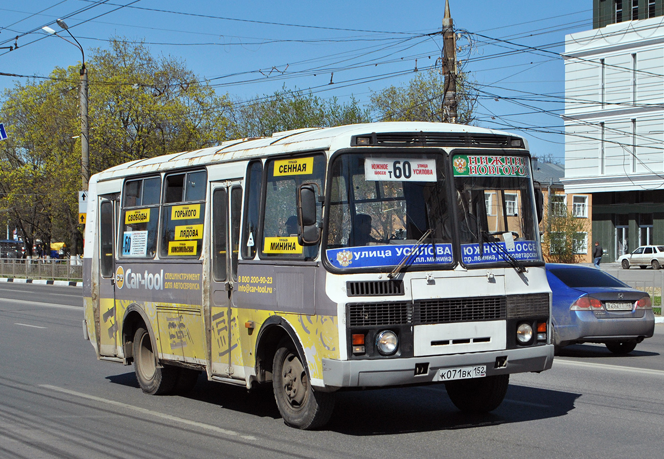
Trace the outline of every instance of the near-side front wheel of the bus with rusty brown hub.
{"label": "near-side front wheel of the bus with rusty brown hub", "polygon": [[273,365],[272,389],[284,423],[303,430],[325,425],[334,409],[334,394],[313,390],[290,339],[280,342]]}

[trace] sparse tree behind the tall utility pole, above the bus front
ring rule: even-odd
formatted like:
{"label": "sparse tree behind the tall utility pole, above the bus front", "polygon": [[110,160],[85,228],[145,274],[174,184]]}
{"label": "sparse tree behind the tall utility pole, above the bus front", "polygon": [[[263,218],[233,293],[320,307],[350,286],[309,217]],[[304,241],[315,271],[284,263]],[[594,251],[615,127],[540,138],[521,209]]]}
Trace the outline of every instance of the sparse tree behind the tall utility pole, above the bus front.
{"label": "sparse tree behind the tall utility pole, above the bus front", "polygon": [[[457,76],[457,123],[471,124],[475,119],[477,94],[469,76]],[[445,81],[436,68],[422,70],[401,86],[390,86],[371,94],[371,111],[380,121],[443,121],[442,104]]]}

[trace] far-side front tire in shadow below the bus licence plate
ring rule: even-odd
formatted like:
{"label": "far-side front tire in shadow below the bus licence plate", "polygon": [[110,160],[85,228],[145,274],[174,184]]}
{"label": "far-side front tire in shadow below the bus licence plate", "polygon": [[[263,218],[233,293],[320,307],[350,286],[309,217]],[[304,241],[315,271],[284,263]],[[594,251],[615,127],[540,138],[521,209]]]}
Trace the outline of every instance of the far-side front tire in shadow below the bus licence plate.
{"label": "far-side front tire in shadow below the bus licence plate", "polygon": [[508,375],[494,375],[473,379],[459,379],[445,383],[452,403],[465,413],[489,413],[505,398]]}

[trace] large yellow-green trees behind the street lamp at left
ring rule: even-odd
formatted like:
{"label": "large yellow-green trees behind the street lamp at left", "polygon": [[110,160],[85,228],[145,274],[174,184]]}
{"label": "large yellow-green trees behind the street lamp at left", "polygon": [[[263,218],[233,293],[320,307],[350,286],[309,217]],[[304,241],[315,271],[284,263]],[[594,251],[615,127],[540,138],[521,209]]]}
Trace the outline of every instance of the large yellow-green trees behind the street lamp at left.
{"label": "large yellow-green trees behind the street lamp at left", "polygon": [[[183,62],[120,39],[89,54],[91,173],[226,139],[228,98]],[[0,143],[0,209],[29,251],[39,238],[80,253],[78,70],[56,68],[46,80],[17,84],[0,108],[10,136]]]}

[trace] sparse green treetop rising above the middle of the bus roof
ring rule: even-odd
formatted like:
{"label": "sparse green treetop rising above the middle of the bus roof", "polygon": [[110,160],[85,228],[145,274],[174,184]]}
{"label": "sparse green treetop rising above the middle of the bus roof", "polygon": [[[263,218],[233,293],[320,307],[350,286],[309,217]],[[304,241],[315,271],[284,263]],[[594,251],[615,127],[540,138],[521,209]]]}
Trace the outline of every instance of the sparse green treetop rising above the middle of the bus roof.
{"label": "sparse green treetop rising above the middle of the bus roof", "polygon": [[337,98],[321,99],[302,90],[282,90],[271,96],[238,101],[232,111],[234,138],[270,137],[272,133],[306,127],[331,127],[367,123],[369,111],[355,98],[340,103]]}

